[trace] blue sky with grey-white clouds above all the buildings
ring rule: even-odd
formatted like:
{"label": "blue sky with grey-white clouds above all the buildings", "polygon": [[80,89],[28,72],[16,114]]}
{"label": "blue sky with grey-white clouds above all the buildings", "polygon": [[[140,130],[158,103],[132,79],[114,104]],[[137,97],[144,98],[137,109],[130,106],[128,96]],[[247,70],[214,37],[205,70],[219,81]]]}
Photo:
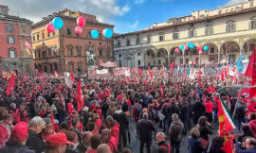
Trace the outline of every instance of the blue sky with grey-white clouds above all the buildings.
{"label": "blue sky with grey-white clouds above all the buildings", "polygon": [[33,22],[57,10],[69,8],[94,14],[101,22],[125,33],[162,23],[169,18],[190,15],[197,9],[214,9],[246,0],[0,0],[12,15]]}

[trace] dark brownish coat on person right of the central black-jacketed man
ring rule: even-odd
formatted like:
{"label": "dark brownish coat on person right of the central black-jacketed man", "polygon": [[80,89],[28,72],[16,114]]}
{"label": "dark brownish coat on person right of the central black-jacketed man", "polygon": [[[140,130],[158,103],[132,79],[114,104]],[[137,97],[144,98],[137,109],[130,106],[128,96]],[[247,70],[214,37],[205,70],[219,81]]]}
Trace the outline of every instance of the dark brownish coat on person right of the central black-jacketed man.
{"label": "dark brownish coat on person right of the central black-jacketed man", "polygon": [[181,141],[183,129],[184,125],[180,120],[173,121],[169,129],[170,140]]}

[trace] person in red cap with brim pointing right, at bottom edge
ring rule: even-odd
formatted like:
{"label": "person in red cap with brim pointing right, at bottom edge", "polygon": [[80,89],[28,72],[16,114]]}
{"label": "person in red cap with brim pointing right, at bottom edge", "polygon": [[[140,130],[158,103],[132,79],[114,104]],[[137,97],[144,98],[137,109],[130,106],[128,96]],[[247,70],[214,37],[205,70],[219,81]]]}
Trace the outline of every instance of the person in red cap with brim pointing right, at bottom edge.
{"label": "person in red cap with brim pointing right, at bottom edge", "polygon": [[46,141],[46,153],[64,153],[66,144],[73,144],[67,141],[63,132],[52,134]]}

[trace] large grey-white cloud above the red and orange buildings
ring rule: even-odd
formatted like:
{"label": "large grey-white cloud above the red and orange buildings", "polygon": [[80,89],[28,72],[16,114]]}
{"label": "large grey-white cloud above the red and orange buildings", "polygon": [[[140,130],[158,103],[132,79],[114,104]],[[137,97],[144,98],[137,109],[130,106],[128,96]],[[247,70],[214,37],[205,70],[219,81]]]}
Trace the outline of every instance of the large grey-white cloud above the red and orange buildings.
{"label": "large grey-white cloud above the red and orange buildings", "polygon": [[130,10],[128,5],[119,6],[118,0],[0,0],[0,4],[9,6],[12,15],[33,22],[64,8],[96,15],[101,22],[107,22],[113,16],[122,16]]}

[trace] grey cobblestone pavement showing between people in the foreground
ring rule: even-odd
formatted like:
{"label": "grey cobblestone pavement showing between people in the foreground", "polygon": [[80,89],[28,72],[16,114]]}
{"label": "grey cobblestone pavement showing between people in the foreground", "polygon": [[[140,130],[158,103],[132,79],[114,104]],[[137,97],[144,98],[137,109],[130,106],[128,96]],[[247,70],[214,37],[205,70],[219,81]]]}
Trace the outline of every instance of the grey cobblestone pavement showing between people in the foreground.
{"label": "grey cobblestone pavement showing between people in the foreground", "polygon": [[[217,135],[217,125],[213,124],[212,127],[213,127],[213,133],[210,135],[210,142],[212,138]],[[161,131],[161,129],[158,129],[158,131]],[[136,134],[136,124],[134,120],[130,120],[130,133],[131,133],[131,144],[128,144],[127,147],[131,148],[134,153],[139,153],[139,139]],[[187,131],[187,135],[183,136],[182,138],[182,142],[180,143],[180,153],[188,152],[188,147],[187,147],[188,137],[189,137],[189,131]],[[151,146],[151,153],[156,153],[157,144],[155,142],[155,137],[153,138],[154,140]],[[169,140],[168,140],[168,143],[170,143]],[[146,146],[144,147],[144,153],[147,153]]]}

